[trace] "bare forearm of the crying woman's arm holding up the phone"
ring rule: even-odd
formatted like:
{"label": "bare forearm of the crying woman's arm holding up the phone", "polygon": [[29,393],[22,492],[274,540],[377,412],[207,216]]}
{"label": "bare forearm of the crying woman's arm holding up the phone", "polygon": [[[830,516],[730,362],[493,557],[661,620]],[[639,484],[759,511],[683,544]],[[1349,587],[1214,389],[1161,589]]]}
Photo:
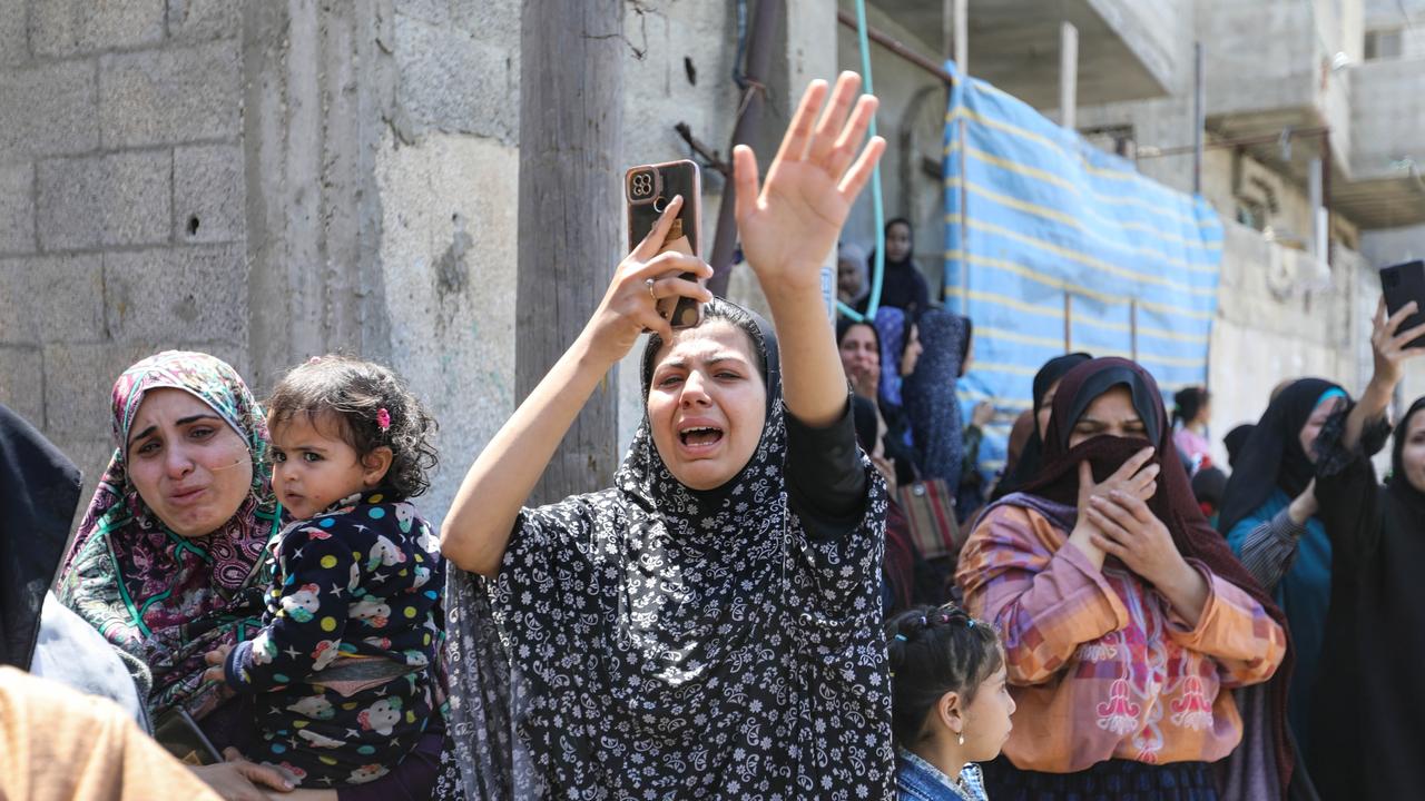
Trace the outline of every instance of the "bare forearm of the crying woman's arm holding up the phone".
{"label": "bare forearm of the crying woman's arm holding up the phone", "polygon": [[499,573],[520,507],[608,366],[580,336],[484,446],[440,526],[450,562],[482,576]]}

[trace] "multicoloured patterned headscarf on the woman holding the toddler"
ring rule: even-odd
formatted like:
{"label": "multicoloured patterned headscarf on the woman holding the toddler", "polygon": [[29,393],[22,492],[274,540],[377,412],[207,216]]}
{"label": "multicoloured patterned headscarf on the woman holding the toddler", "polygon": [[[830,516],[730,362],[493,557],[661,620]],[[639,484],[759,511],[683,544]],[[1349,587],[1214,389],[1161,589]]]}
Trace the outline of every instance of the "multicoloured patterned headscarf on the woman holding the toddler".
{"label": "multicoloured patterned headscarf on the woman holding the toddler", "polygon": [[[128,477],[130,429],[145,393],[158,388],[182,389],[211,406],[252,455],[251,492],[207,537],[170,530]],[[271,579],[266,547],[282,509],[272,493],[266,422],[227,362],[184,351],[124,371],[114,382],[113,410],[118,448],[74,537],[60,599],[148,666],[151,715],[181,706],[202,717],[221,701],[217,684],[202,684],[202,656],[258,626]]]}

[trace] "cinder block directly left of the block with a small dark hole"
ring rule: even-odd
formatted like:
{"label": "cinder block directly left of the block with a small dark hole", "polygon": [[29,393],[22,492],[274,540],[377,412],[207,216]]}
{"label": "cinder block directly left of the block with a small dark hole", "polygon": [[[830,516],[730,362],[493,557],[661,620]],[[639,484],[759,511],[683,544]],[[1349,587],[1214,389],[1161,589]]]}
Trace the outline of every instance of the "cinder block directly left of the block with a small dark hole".
{"label": "cinder block directly left of the block with a small dark hole", "polygon": [[167,242],[171,177],[167,150],[41,161],[40,245],[54,251]]}

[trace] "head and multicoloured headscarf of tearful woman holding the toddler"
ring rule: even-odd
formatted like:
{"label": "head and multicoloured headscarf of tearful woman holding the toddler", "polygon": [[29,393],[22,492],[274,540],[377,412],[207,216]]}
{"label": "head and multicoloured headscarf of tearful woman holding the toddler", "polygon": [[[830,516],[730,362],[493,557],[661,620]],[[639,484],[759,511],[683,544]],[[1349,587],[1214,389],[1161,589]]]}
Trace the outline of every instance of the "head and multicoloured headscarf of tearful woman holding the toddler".
{"label": "head and multicoloured headscarf of tearful woman holding the toddler", "polygon": [[[150,419],[150,398],[184,406],[177,426]],[[60,573],[60,599],[148,666],[155,724],[174,708],[202,718],[224,700],[202,681],[202,656],[258,627],[271,582],[266,547],[281,507],[266,422],[231,366],[180,351],[124,371],[113,410],[118,448]],[[175,463],[180,445],[197,455],[190,465]]]}

